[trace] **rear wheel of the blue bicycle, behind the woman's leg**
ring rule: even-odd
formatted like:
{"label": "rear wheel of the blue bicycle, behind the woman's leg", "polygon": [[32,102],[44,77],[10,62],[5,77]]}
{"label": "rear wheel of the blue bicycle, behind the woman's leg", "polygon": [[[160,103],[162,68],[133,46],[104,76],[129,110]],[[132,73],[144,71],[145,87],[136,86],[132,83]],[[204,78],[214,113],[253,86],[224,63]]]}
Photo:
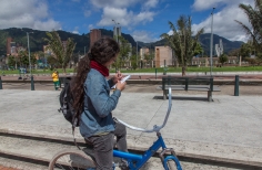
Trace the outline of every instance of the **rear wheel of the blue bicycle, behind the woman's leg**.
{"label": "rear wheel of the blue bicycle, behind the woman's leg", "polygon": [[82,150],[62,150],[49,163],[49,170],[94,170],[97,163]]}

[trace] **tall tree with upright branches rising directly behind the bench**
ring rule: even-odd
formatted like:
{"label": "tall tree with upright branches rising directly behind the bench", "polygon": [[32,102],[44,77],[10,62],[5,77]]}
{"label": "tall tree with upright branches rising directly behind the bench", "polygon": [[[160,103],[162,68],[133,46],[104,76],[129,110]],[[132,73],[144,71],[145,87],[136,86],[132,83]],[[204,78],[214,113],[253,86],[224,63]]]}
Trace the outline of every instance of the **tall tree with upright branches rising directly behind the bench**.
{"label": "tall tree with upright branches rising directly behind the bench", "polygon": [[168,40],[168,45],[170,45],[177,55],[179,64],[182,65],[182,76],[185,75],[188,62],[190,62],[193,57],[199,36],[204,32],[204,29],[201,29],[194,36],[192,36],[193,33],[191,23],[191,17],[181,15],[177,21],[177,26],[169,21],[169,25],[173,31],[173,34],[169,35],[163,33],[161,35],[162,39]]}

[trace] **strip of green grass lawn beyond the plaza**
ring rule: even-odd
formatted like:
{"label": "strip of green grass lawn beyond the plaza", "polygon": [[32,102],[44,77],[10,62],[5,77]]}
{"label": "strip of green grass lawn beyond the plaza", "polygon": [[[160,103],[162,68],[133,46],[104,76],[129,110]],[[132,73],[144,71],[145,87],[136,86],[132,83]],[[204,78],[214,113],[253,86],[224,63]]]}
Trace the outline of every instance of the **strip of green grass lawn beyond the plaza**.
{"label": "strip of green grass lawn beyond the plaza", "polygon": [[[122,68],[122,73],[163,73],[163,67],[159,68],[137,68],[135,71]],[[18,70],[14,71],[0,71],[0,75],[4,74],[19,74]],[[59,73],[63,73],[61,68],[58,68]],[[67,73],[73,73],[73,68],[67,68]],[[111,68],[110,73],[114,73],[115,70]],[[181,67],[169,67],[167,73],[181,73]],[[210,67],[188,67],[187,73],[190,72],[210,72]],[[212,67],[212,72],[262,72],[262,66],[224,66],[224,67]],[[32,74],[51,74],[50,70],[32,70]],[[29,74],[29,72],[27,73]]]}

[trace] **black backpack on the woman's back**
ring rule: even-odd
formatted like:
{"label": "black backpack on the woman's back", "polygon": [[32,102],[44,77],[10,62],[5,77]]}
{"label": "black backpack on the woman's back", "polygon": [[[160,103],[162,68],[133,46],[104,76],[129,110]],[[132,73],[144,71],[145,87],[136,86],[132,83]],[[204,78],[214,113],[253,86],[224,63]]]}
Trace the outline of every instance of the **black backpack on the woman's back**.
{"label": "black backpack on the woman's back", "polygon": [[79,126],[79,118],[75,116],[75,111],[73,109],[73,95],[71,93],[71,77],[64,77],[63,79],[63,89],[60,93],[59,102],[60,102],[60,109],[59,113],[62,111],[64,118],[72,125],[72,129],[74,130],[75,127]]}

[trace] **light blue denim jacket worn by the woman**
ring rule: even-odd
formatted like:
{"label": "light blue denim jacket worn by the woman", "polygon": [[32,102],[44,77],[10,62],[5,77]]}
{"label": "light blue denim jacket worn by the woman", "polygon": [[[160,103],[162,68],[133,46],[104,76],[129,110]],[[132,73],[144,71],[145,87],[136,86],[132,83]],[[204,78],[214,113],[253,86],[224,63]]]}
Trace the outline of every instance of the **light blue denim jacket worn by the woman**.
{"label": "light blue denim jacket worn by the woman", "polygon": [[115,89],[110,95],[111,79],[107,79],[100,72],[91,68],[84,82],[84,104],[80,118],[80,134],[91,137],[114,131],[112,110],[117,107],[121,91]]}

